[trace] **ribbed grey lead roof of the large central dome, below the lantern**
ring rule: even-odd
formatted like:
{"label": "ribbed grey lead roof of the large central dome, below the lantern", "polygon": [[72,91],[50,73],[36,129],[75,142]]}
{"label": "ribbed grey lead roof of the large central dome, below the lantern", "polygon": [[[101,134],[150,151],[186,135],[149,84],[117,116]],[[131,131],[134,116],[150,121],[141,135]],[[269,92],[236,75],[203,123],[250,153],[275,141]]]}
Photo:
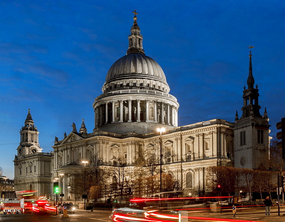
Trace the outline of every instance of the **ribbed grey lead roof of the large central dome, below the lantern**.
{"label": "ribbed grey lead roof of the large central dome, below the lantern", "polygon": [[109,69],[106,82],[118,77],[152,77],[166,83],[164,72],[152,58],[141,53],[131,53],[119,58]]}

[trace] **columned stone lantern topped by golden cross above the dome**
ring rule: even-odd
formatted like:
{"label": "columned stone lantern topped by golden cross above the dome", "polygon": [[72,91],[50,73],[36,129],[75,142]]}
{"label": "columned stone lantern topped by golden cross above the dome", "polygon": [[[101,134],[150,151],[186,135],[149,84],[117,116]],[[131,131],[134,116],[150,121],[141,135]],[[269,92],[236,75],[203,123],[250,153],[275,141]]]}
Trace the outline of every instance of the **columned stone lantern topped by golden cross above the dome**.
{"label": "columned stone lantern topped by golden cross above the dome", "polygon": [[135,14],[134,24],[131,27],[131,34],[128,37],[129,48],[127,50],[127,55],[131,53],[141,53],[145,55],[143,50],[143,36],[141,35],[141,30],[137,23],[137,10],[133,11],[133,13]]}

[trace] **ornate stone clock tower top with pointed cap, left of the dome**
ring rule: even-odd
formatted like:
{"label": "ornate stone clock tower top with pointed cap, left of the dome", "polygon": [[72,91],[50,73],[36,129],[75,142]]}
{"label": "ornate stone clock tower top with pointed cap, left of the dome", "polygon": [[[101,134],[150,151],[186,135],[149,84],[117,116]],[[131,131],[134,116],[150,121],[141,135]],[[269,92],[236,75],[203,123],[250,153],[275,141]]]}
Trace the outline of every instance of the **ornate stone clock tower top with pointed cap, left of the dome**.
{"label": "ornate stone clock tower top with pointed cap, left of the dome", "polygon": [[34,125],[34,120],[29,109],[25,124],[20,130],[21,142],[17,148],[17,156],[42,152],[42,148],[40,148],[40,144],[38,143],[38,134],[38,129]]}

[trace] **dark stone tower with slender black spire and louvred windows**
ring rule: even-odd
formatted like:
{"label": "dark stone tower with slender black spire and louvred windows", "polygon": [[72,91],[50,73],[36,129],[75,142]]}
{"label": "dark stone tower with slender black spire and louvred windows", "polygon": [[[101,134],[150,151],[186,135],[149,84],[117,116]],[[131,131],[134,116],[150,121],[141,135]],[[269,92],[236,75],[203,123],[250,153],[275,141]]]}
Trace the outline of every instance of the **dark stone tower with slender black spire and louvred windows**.
{"label": "dark stone tower with slender black spire and louvred windows", "polygon": [[[253,48],[252,46],[249,49]],[[235,115],[235,167],[260,169],[266,167],[262,162],[269,154],[269,124],[266,108],[264,116],[259,113],[258,86],[254,88],[252,74],[251,51],[249,51],[249,76],[247,78],[247,89],[243,88],[243,107],[241,118],[236,111]]]}

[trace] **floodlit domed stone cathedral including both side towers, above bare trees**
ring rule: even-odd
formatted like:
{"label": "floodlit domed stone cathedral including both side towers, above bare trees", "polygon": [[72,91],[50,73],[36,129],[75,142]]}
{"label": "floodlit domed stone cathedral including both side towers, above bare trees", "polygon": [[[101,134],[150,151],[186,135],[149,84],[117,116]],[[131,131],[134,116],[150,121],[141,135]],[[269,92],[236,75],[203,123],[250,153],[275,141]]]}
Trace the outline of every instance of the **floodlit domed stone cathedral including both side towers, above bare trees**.
{"label": "floodlit domed stone cathedral including both side towers, above bare trees", "polygon": [[28,112],[14,160],[16,191],[34,189],[39,195],[51,195],[52,182],[61,177],[63,199],[74,200],[68,189],[72,173],[79,172],[82,161],[94,154],[111,167],[118,159],[131,165],[137,152],[144,150],[159,163],[160,133],[156,129],[162,127],[166,129],[161,135],[162,168],[179,172],[186,190],[198,184],[207,186],[208,166],[261,166],[260,158],[268,156],[269,125],[266,109],[264,116],[259,113],[251,53],[241,118],[236,113],[235,122],[212,119],[178,126],[178,101],[169,94],[162,68],[144,53],[136,13],[128,39],[127,55],[111,66],[103,94],[93,103],[93,132],[87,132],[84,120],[78,132],[73,124],[72,132],[60,140],[56,137],[52,153],[42,153],[38,129]]}

